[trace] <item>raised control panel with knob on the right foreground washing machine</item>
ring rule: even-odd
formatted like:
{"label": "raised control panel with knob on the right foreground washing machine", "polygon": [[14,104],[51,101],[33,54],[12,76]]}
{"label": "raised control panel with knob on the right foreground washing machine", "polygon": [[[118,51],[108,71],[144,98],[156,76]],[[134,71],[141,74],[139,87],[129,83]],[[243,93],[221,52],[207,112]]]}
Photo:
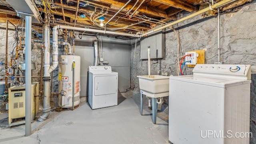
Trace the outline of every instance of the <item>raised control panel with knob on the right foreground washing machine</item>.
{"label": "raised control panel with knob on the right foreground washing machine", "polygon": [[235,76],[248,77],[251,75],[251,66],[244,64],[196,64],[193,69],[194,75],[208,76]]}

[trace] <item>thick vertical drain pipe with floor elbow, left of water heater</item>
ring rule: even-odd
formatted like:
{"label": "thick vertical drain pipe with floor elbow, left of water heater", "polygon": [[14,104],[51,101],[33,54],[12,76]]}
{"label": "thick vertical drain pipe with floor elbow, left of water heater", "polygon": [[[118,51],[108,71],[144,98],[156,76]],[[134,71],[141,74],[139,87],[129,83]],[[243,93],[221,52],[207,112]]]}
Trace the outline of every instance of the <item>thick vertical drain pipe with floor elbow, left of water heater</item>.
{"label": "thick vertical drain pipe with floor elbow, left of water heater", "polygon": [[38,118],[38,121],[43,122],[46,120],[50,114],[50,85],[51,78],[48,72],[50,68],[50,29],[49,26],[44,26],[44,105],[42,111],[44,112],[42,116]]}

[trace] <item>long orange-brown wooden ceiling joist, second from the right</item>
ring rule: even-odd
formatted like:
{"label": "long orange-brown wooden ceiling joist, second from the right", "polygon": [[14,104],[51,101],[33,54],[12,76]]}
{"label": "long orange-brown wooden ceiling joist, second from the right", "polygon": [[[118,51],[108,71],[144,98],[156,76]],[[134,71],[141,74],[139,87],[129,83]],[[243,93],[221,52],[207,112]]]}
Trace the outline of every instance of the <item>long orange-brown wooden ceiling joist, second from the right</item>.
{"label": "long orange-brown wooden ceiling joist, second from the right", "polygon": [[[115,10],[119,10],[120,8],[122,8],[122,6],[125,5],[125,3],[123,2],[118,2],[116,0],[94,0],[96,2],[102,2],[105,4],[111,4],[110,8],[113,8]],[[133,4],[129,3],[124,9],[123,11],[128,11],[130,10],[130,8],[132,8]],[[134,9],[136,9],[137,6],[134,7]],[[164,10],[156,8],[156,7],[152,7],[152,6],[140,6],[140,8],[138,9],[138,12],[143,12],[143,13],[147,13],[153,16],[159,16],[162,18],[167,18],[167,14]]]}

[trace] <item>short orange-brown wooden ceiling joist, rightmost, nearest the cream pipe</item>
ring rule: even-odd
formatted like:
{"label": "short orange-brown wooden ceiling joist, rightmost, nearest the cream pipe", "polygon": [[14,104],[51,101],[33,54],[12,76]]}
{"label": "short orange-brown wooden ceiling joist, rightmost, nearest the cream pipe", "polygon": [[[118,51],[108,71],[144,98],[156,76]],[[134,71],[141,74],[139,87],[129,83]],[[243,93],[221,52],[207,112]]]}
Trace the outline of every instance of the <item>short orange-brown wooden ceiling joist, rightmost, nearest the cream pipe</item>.
{"label": "short orange-brown wooden ceiling joist, rightmost, nearest the cream pipe", "polygon": [[183,0],[153,0],[155,2],[159,2],[161,4],[165,4],[168,6],[172,6],[174,8],[180,8],[189,12],[197,11],[196,6],[189,4]]}

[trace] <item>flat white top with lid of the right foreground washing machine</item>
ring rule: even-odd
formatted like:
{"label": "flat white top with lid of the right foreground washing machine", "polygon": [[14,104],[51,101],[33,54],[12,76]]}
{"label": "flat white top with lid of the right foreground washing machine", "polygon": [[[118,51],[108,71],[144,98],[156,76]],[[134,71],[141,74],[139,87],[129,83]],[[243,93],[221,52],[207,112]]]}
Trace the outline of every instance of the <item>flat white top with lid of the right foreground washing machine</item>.
{"label": "flat white top with lid of the right foreground washing machine", "polygon": [[242,84],[249,84],[251,80],[239,80],[239,79],[229,79],[229,78],[217,78],[217,77],[204,77],[204,76],[170,76],[170,82],[172,80],[190,82],[194,84],[202,84],[207,86],[214,86],[220,88],[228,88],[232,86],[238,86]]}

